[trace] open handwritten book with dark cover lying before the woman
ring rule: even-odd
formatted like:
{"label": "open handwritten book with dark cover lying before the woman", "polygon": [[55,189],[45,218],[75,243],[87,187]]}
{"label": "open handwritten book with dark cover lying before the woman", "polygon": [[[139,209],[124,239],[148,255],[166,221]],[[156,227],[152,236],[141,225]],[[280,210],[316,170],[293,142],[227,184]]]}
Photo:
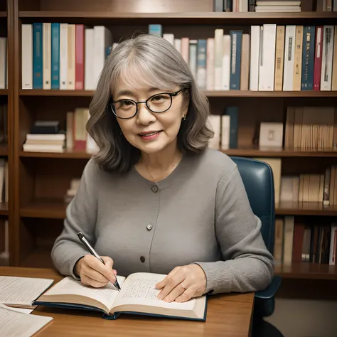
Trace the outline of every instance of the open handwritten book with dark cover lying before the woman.
{"label": "open handwritten book with dark cover lying before the woman", "polygon": [[156,298],[155,284],[166,275],[134,273],[117,276],[121,291],[111,283],[104,288],[83,285],[72,277],[65,277],[42,294],[34,304],[103,311],[103,318],[117,319],[119,314],[144,314],[178,319],[205,321],[207,297],[200,296],[184,303],[166,303]]}

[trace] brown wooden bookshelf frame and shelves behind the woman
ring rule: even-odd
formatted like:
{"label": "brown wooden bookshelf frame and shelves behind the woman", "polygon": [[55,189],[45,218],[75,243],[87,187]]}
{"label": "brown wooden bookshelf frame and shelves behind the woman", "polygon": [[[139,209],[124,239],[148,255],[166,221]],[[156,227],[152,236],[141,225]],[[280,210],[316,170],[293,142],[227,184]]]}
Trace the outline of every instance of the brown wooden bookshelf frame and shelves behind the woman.
{"label": "brown wooden bookshelf frame and shelves behind the woman", "polygon": [[[127,5],[121,0],[5,0],[10,9],[1,6],[0,24],[8,31],[9,87],[0,90],[1,100],[9,103],[9,144],[0,144],[0,156],[9,159],[9,203],[0,203],[0,215],[9,218],[11,228],[11,264],[24,267],[51,267],[51,245],[41,244],[45,236],[53,242],[62,230],[66,203],[63,197],[72,178],[79,177],[91,154],[85,151],[63,153],[25,152],[26,134],[35,119],[57,119],[64,122],[67,111],[87,106],[90,90],[22,90],[21,89],[21,24],[33,22],[85,23],[109,26],[114,41],[133,31],[146,30],[149,23],[161,23],[169,33],[210,37],[215,28],[232,26],[249,31],[251,25],[277,23],[315,26],[336,25],[337,12],[300,13],[214,13],[211,0],[159,0],[159,13],[152,8],[139,9],[137,0]],[[193,8],[193,12],[190,10]],[[157,10],[157,9],[156,9]],[[161,11],[161,12],[160,12]],[[7,16],[7,12],[9,16]],[[237,149],[223,149],[229,156],[282,158],[282,171],[287,174],[321,172],[337,164],[337,151],[296,151],[294,149],[259,149],[256,125],[263,121],[285,122],[289,105],[334,105],[336,91],[205,91],[213,114],[223,114],[226,105],[240,109]],[[337,205],[322,203],[280,203],[278,216],[336,217]],[[38,222],[39,230],[35,227]],[[50,223],[52,222],[52,223]],[[39,237],[45,230],[43,239]],[[48,241],[47,240],[47,241]],[[321,264],[277,265],[275,274],[294,279],[336,280],[335,267]]]}

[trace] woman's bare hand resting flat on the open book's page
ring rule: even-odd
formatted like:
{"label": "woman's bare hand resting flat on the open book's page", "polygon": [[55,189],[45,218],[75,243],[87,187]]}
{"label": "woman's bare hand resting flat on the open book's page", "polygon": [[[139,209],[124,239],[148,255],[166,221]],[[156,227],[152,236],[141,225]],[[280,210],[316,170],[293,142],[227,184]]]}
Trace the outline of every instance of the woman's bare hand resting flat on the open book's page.
{"label": "woman's bare hand resting flat on the open book's page", "polygon": [[198,264],[176,267],[163,281],[156,284],[156,289],[161,289],[158,299],[185,302],[203,294],[206,289],[206,275]]}

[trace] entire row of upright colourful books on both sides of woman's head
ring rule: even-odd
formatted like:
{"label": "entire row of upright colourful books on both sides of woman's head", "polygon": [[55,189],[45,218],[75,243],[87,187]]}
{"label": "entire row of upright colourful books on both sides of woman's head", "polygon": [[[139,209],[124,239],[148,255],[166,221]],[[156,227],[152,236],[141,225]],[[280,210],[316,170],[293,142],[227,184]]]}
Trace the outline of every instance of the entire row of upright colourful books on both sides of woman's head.
{"label": "entire row of upright colourful books on both sides of woman's head", "polygon": [[[105,26],[21,27],[27,50],[21,56],[22,89],[27,90],[95,90],[105,59],[118,46]],[[267,23],[228,33],[216,28],[207,38],[177,38],[169,27],[149,24],[149,33],[175,46],[202,90],[337,90],[337,26]]]}

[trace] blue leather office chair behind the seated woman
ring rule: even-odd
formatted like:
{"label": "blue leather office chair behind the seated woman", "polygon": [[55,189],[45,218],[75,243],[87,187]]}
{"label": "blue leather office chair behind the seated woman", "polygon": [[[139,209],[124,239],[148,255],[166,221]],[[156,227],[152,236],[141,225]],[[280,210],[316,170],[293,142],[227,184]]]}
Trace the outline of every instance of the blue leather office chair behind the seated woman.
{"label": "blue leather office chair behind the seated woman", "polygon": [[[274,178],[270,166],[255,159],[231,157],[237,164],[240,176],[250,201],[250,207],[262,223],[261,233],[269,252],[274,251],[274,228],[275,228],[275,206],[274,206]],[[253,316],[252,336],[283,336],[277,328],[264,321],[264,317],[274,312],[275,294],[281,277],[274,276],[272,283],[262,291],[255,293],[255,305]]]}

